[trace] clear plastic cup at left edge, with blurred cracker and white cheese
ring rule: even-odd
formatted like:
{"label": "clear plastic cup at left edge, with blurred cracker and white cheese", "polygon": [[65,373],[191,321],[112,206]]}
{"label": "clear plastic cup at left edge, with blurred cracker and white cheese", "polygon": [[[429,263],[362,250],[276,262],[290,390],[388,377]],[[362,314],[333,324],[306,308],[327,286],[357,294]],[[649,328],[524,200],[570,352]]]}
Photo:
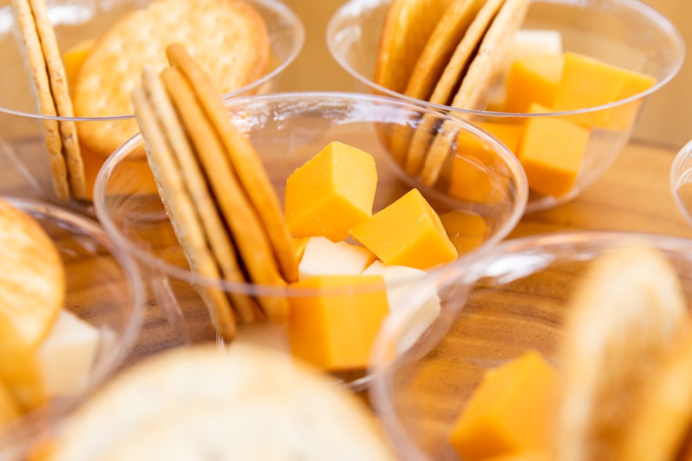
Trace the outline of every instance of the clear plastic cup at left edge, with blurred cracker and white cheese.
{"label": "clear plastic cup at left edge, with blurred cracker and white cheese", "polygon": [[37,438],[118,370],[140,331],[147,298],[136,261],[92,220],[41,201],[4,199],[33,216],[53,238],[66,268],[64,307],[102,332],[84,391],[53,399],[16,427],[0,429],[0,458],[22,460]]}

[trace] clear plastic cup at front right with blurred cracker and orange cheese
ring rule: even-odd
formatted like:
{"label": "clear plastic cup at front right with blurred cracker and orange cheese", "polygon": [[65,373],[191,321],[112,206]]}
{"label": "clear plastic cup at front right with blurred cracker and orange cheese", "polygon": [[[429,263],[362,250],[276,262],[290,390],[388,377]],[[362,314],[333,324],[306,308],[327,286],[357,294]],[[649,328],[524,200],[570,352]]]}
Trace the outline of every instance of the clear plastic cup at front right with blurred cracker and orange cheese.
{"label": "clear plastic cup at front right with blurred cracker and orange cheese", "polygon": [[[370,399],[403,460],[458,460],[453,422],[486,370],[536,350],[556,363],[567,302],[590,261],[644,243],[673,263],[692,305],[692,241],[626,232],[566,232],[513,239],[428,276],[385,321],[373,347]],[[415,305],[437,290],[442,313],[406,354],[401,339]],[[559,365],[558,365],[559,366]]]}

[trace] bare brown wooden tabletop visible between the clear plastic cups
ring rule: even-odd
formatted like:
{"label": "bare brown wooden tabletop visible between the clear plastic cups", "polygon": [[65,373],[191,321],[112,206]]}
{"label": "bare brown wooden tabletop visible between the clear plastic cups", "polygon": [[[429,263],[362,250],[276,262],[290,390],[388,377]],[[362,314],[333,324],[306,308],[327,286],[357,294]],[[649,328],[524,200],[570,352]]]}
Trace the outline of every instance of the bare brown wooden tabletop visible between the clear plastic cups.
{"label": "bare brown wooden tabletop visible between the clear plastic cups", "polygon": [[[668,186],[675,150],[630,143],[603,176],[570,203],[528,214],[509,238],[576,229],[651,232],[692,238],[692,227],[678,211]],[[0,193],[31,196],[21,175],[2,165]],[[142,331],[124,366],[182,344],[153,301]]]}

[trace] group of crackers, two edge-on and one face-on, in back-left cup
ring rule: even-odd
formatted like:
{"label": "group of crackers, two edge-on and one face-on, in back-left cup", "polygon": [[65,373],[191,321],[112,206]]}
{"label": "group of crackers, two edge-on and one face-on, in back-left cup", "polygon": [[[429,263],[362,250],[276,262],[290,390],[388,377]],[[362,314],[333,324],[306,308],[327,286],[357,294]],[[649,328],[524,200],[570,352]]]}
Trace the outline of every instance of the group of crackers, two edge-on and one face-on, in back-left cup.
{"label": "group of crackers, two edge-on and one face-on, in back-left cup", "polygon": [[68,88],[45,0],[12,0],[12,6],[37,88],[39,113],[60,117],[42,119],[59,200],[89,200],[93,170],[138,132],[131,118],[103,117],[132,113],[129,91],[145,65],[165,66],[168,44],[188,46],[223,93],[251,84],[268,63],[268,30],[249,3],[154,0],[118,19],[93,42]]}

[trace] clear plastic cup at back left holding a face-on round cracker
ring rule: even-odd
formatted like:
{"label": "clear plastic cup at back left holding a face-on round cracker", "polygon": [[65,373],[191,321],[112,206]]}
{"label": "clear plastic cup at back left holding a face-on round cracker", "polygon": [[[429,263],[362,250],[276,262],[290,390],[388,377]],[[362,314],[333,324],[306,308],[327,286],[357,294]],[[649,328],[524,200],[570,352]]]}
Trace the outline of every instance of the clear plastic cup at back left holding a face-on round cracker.
{"label": "clear plastic cup at back left holding a face-on round cracker", "polygon": [[[246,0],[260,13],[270,37],[269,68],[262,78],[226,97],[277,90],[280,75],[298,56],[304,44],[304,26],[295,12],[277,0]],[[21,36],[10,1],[0,4],[0,154],[7,156],[26,177],[39,196],[56,201],[51,169],[44,142],[41,120],[37,114],[33,79],[25,64]],[[107,27],[131,10],[143,8],[148,0],[113,0],[48,2],[48,16],[55,28],[61,52],[87,39],[99,37]],[[74,120],[80,125],[104,120],[129,120],[133,116],[113,114],[112,117],[53,117]],[[51,118],[51,117],[48,117]],[[124,142],[125,140],[123,140]],[[89,191],[105,157],[82,149]],[[80,211],[91,211],[91,204],[63,204]]]}

